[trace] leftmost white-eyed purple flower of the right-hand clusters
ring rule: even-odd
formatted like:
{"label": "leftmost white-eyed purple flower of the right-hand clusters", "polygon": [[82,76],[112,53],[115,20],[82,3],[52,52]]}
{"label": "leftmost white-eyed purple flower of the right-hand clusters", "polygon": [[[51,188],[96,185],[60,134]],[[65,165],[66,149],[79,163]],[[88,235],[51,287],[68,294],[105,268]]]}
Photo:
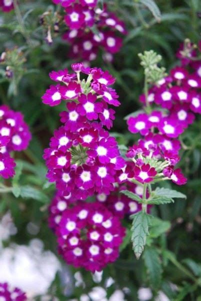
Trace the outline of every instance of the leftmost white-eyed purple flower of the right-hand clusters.
{"label": "leftmost white-eyed purple flower of the right-hand clusters", "polygon": [[141,135],[146,135],[151,127],[151,122],[148,121],[146,114],[139,114],[137,117],[130,117],[127,120],[128,130],[131,133],[140,132]]}

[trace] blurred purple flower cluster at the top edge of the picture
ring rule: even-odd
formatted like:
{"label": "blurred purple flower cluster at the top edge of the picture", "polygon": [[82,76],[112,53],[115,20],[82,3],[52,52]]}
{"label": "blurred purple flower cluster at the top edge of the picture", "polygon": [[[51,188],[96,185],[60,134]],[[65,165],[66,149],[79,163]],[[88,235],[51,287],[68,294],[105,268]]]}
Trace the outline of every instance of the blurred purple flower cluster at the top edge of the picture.
{"label": "blurred purple flower cluster at the top edge of the picture", "polygon": [[122,46],[122,39],[117,35],[126,34],[124,23],[114,13],[97,7],[97,0],[60,1],[66,15],[64,22],[68,30],[63,39],[71,46],[70,57],[92,61],[96,58],[99,48],[103,48],[103,59],[112,61],[113,54]]}

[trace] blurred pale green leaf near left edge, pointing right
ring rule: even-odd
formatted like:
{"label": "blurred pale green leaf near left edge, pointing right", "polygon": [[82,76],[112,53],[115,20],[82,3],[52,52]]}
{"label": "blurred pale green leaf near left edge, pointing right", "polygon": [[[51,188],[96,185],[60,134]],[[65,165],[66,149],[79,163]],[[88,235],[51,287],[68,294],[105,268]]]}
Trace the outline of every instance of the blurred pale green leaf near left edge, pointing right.
{"label": "blurred pale green leaf near left edge, pointing right", "polygon": [[26,199],[37,200],[42,203],[49,202],[49,198],[43,192],[39,191],[38,189],[36,189],[34,187],[28,186],[28,185],[21,186],[20,196],[22,198],[26,198]]}

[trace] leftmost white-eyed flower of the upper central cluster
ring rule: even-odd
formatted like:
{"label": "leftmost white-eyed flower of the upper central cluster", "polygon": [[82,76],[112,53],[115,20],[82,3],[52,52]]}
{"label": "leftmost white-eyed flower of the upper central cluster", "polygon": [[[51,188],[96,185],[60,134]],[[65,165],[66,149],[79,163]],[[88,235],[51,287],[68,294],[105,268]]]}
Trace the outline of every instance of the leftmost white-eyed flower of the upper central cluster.
{"label": "leftmost white-eyed flower of the upper central cluster", "polygon": [[51,85],[49,89],[46,90],[44,95],[41,97],[42,102],[44,104],[48,104],[49,106],[55,106],[60,104],[62,97],[60,94],[60,85],[53,86]]}

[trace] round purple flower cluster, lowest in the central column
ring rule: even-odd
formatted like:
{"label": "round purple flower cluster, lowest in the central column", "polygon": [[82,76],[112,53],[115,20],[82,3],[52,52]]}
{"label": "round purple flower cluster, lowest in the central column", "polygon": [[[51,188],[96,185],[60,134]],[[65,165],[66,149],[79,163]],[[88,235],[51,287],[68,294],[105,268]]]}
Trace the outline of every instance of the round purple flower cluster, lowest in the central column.
{"label": "round purple flower cluster, lowest in the central column", "polygon": [[[63,209],[64,202],[57,207]],[[118,257],[124,228],[102,204],[81,203],[63,210],[56,235],[67,263],[94,272]]]}

